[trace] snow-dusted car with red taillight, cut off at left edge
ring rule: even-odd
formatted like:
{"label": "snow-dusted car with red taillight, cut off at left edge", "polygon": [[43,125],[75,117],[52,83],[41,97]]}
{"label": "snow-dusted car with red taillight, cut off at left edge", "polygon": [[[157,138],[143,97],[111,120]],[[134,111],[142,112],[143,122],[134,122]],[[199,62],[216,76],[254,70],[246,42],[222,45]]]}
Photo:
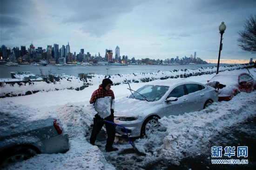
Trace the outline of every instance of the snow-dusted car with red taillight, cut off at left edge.
{"label": "snow-dusted car with red taillight, cut off at left edge", "polygon": [[[1,168],[38,153],[64,153],[69,150],[67,132],[60,125],[61,120],[53,116],[37,117],[34,113],[26,116],[25,111],[12,114],[12,109],[0,110]],[[30,121],[31,117],[34,120]]]}

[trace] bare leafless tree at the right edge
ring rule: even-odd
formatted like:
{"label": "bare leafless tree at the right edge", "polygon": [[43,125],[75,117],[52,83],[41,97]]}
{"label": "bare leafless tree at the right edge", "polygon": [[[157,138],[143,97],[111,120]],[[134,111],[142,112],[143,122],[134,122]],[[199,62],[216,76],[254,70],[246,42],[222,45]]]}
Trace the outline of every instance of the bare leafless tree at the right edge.
{"label": "bare leafless tree at the right edge", "polygon": [[249,52],[256,52],[256,15],[245,20],[244,30],[239,31],[238,46]]}

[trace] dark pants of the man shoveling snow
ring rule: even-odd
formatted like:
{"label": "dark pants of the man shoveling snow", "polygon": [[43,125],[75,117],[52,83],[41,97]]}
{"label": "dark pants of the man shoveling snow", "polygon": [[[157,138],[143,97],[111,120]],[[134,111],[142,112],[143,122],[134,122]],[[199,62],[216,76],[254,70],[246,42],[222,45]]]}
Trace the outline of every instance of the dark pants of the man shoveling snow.
{"label": "dark pants of the man shoveling snow", "polygon": [[[114,122],[114,114],[111,114],[107,118],[104,118],[104,119],[108,120],[110,122]],[[111,148],[114,143],[114,140],[115,140],[115,126],[112,124],[105,123],[97,118],[94,118],[94,125],[93,125],[92,134],[90,137],[90,144],[95,143],[96,137],[99,134],[99,132],[101,131],[101,128],[104,124],[105,124],[106,131],[108,134],[106,148]]]}

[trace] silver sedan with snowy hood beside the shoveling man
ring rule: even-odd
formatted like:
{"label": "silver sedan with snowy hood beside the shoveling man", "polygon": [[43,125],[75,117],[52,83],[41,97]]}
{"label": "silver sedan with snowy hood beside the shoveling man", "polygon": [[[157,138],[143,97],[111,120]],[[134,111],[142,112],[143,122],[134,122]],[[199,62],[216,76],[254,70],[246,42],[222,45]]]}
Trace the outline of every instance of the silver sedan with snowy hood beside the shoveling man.
{"label": "silver sedan with snowy hood beside the shoveling man", "polygon": [[[144,85],[127,98],[116,101],[115,123],[126,127],[130,137],[147,136],[159,128],[158,119],[200,111],[218,101],[216,89],[182,80],[169,84]],[[116,127],[119,135],[125,130]]]}

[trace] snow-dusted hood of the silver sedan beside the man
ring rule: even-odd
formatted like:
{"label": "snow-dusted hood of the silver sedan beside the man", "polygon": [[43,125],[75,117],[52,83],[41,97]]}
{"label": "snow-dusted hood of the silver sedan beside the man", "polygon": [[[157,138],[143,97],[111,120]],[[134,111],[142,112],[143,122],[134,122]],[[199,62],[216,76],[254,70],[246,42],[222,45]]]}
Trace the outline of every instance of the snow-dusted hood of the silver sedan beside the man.
{"label": "snow-dusted hood of the silver sedan beside the man", "polygon": [[153,107],[158,102],[148,102],[135,98],[121,98],[115,102],[115,116],[129,117],[138,115],[140,111]]}

